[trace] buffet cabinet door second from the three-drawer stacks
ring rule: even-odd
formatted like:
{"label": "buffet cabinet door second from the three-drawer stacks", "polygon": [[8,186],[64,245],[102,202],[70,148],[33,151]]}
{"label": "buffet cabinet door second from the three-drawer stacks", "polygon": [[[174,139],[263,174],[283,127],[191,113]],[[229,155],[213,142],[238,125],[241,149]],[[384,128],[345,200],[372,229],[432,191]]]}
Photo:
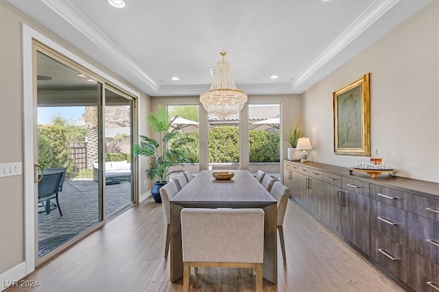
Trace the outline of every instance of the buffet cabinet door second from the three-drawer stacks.
{"label": "buffet cabinet door second from the three-drawer stacks", "polygon": [[342,235],[342,191],[340,187],[322,183],[321,217],[322,223]]}

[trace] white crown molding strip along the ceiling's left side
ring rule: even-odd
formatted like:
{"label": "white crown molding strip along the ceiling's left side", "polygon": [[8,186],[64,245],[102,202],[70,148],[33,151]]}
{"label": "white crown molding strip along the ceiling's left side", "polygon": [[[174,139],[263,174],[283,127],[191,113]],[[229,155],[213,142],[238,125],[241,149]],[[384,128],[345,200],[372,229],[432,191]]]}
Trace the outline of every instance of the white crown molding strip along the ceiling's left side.
{"label": "white crown molding strip along the ceiling's left side", "polygon": [[137,77],[146,83],[155,92],[158,92],[158,85],[137,65],[126,53],[124,53],[114,42],[112,42],[100,29],[80,13],[70,1],[49,1],[41,0],[48,8],[70,23],[81,34],[95,43],[99,49],[108,53],[121,66],[131,72],[136,72]]}

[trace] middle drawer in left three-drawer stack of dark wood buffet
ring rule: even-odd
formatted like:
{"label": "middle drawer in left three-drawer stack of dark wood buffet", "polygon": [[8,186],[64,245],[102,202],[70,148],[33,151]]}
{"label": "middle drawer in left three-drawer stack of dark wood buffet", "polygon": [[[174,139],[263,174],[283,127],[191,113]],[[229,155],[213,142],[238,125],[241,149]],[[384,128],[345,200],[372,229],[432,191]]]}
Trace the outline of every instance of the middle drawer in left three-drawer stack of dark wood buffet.
{"label": "middle drawer in left three-drawer stack of dark wood buffet", "polygon": [[370,228],[394,241],[407,245],[407,212],[377,200],[372,200]]}

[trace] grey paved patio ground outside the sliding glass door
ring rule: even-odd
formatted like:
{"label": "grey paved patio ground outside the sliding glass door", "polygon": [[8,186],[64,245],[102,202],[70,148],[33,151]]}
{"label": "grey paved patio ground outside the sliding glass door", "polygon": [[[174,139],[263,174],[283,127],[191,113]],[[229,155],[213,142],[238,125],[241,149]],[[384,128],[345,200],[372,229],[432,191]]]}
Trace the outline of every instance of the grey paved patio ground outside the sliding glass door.
{"label": "grey paved patio ground outside the sliding glass door", "polygon": [[[131,202],[129,182],[106,185],[106,215]],[[38,213],[39,256],[54,250],[64,242],[84,232],[98,222],[97,183],[93,180],[64,181],[58,193],[62,217],[58,208],[49,214]],[[56,200],[52,200],[56,202]],[[42,209],[40,208],[39,211]]]}

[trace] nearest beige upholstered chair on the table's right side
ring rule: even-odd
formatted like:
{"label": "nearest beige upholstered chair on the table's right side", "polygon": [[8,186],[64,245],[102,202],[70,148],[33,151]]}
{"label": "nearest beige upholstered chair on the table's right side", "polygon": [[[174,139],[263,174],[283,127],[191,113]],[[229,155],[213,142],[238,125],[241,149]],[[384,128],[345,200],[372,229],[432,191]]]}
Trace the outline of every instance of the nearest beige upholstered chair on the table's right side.
{"label": "nearest beige upholstered chair on the table's right side", "polygon": [[281,250],[283,261],[287,261],[285,254],[285,241],[283,239],[283,218],[285,217],[285,210],[287,209],[287,203],[289,198],[289,188],[285,187],[280,181],[276,181],[273,184],[270,194],[276,199],[277,204],[277,230],[279,233],[279,241],[281,241]]}

